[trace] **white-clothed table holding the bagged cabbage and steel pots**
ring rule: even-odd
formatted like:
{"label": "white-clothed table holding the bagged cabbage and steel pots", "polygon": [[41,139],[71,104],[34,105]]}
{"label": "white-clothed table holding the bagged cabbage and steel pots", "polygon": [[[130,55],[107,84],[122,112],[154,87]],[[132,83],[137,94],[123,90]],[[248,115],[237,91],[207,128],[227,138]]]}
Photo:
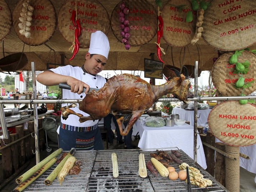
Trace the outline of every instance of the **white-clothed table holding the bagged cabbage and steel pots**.
{"label": "white-clothed table holding the bagged cabbage and steel pots", "polygon": [[[147,127],[144,119],[137,120],[136,126],[140,134],[138,147],[148,148],[168,148],[178,147],[192,159],[194,158],[194,128],[191,125],[174,125],[174,127]],[[206,169],[206,159],[201,138],[197,134],[197,163]]]}

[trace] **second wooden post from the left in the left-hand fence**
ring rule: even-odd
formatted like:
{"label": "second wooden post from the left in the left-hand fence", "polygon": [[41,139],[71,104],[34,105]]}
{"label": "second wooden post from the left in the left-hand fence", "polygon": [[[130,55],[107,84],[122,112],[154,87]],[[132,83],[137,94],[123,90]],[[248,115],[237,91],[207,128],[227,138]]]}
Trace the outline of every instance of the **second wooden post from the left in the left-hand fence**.
{"label": "second wooden post from the left in the left-hand fence", "polygon": [[[14,142],[18,140],[18,134],[17,133],[12,133],[10,134],[10,141],[11,142]],[[19,152],[18,152],[18,149],[19,149],[19,143],[14,143],[13,145],[11,145],[9,148],[11,149],[11,152],[12,152],[12,174],[15,173],[18,169],[19,169]]]}

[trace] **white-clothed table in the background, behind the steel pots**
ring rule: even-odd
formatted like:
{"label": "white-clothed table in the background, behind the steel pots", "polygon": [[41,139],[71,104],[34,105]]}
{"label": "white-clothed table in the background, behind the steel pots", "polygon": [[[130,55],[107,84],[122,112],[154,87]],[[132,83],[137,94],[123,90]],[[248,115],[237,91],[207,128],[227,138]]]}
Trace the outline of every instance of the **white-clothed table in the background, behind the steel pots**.
{"label": "white-clothed table in the background, behind the steel pots", "polygon": [[[207,118],[211,109],[198,109],[197,116],[200,115],[200,118],[197,118],[197,125],[203,126],[207,123]],[[172,114],[179,114],[179,119],[183,119],[190,122],[190,125],[194,127],[194,110],[185,110],[178,107],[173,108]]]}

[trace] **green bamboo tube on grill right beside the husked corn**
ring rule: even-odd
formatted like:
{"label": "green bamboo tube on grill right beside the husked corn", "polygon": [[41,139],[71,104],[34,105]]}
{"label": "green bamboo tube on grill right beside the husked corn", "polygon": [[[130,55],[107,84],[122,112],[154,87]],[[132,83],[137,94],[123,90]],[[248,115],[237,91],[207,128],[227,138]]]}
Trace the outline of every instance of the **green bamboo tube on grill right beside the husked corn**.
{"label": "green bamboo tube on grill right beside the husked corn", "polygon": [[69,151],[69,153],[64,157],[64,159],[62,161],[60,161],[59,165],[57,165],[56,168],[51,172],[51,174],[45,179],[45,181],[44,181],[45,185],[50,185],[54,181],[54,179],[58,176],[60,170],[63,168],[67,159],[69,157],[73,156],[75,151],[76,151],[75,148],[72,148]]}

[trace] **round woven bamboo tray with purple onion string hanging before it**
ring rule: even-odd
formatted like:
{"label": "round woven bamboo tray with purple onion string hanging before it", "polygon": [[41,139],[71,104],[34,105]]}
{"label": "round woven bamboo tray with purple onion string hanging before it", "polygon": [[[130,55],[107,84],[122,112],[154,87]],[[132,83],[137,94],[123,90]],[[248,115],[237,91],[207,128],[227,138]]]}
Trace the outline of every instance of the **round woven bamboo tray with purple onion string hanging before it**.
{"label": "round woven bamboo tray with purple onion string hanging before it", "polygon": [[121,36],[119,21],[120,5],[125,2],[125,5],[129,9],[128,15],[125,19],[129,20],[129,44],[131,46],[140,46],[148,43],[156,35],[157,32],[157,13],[152,4],[146,0],[125,0],[120,1],[111,13],[111,29],[114,36],[122,42],[124,37]]}

